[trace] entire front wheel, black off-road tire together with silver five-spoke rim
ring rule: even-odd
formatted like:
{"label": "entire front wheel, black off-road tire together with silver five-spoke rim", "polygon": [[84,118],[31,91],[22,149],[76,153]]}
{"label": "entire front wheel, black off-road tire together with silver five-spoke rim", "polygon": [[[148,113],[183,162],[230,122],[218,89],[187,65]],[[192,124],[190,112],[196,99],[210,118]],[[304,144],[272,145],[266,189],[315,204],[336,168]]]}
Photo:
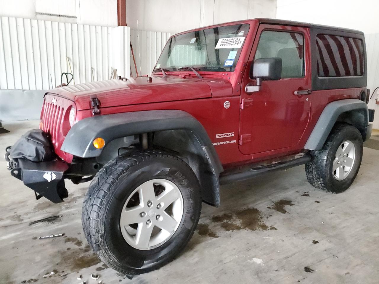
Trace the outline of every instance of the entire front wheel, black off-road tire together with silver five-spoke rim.
{"label": "entire front wheel, black off-road tire together with silver five-spoke rim", "polygon": [[180,158],[160,151],[119,156],[95,176],[83,204],[89,245],[114,270],[155,270],[185,247],[200,217],[199,183]]}

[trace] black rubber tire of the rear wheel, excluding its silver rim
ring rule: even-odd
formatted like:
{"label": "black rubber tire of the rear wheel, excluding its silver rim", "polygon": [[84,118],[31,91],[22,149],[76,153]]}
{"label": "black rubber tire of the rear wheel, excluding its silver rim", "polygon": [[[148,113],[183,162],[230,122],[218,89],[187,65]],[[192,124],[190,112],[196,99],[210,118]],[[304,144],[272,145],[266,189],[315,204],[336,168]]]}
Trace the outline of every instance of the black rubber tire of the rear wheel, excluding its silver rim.
{"label": "black rubber tire of the rear wheel, excluding its silver rim", "polygon": [[[333,175],[332,164],[337,148],[342,142],[350,140],[355,147],[355,161],[353,167],[343,180],[337,180]],[[351,186],[359,171],[362,162],[363,141],[359,130],[346,123],[337,123],[330,132],[324,147],[321,150],[310,151],[312,160],[305,164],[305,173],[312,186],[340,193]]]}

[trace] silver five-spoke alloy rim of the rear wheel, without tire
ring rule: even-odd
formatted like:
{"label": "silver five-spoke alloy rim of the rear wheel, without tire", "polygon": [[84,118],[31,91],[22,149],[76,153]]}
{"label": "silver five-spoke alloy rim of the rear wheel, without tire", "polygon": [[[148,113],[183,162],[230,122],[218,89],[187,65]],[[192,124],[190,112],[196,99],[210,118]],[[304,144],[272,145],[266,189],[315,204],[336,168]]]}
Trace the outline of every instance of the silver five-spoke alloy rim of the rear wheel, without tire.
{"label": "silver five-spoke alloy rim of the rear wheel, without tire", "polygon": [[338,181],[346,178],[351,172],[355,161],[355,145],[350,140],[342,142],[337,148],[333,161],[333,175]]}

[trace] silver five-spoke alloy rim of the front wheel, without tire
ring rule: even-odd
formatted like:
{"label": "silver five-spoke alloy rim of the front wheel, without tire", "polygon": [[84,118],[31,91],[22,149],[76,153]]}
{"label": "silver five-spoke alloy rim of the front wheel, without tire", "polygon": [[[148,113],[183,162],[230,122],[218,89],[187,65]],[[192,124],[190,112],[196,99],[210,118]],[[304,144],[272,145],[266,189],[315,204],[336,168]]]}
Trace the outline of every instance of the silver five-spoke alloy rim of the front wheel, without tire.
{"label": "silver five-spoke alloy rim of the front wheel, without tire", "polygon": [[156,178],[137,187],[126,200],[120,218],[122,236],[138,250],[167,242],[183,217],[183,196],[168,179]]}

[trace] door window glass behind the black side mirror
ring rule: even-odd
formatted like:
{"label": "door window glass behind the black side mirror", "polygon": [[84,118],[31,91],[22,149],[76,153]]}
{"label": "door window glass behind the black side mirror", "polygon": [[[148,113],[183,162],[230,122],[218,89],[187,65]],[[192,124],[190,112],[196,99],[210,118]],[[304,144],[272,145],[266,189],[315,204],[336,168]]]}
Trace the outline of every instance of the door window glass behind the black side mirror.
{"label": "door window glass behind the black side mirror", "polygon": [[299,33],[263,31],[254,61],[259,58],[282,58],[282,78],[304,76],[304,37]]}

